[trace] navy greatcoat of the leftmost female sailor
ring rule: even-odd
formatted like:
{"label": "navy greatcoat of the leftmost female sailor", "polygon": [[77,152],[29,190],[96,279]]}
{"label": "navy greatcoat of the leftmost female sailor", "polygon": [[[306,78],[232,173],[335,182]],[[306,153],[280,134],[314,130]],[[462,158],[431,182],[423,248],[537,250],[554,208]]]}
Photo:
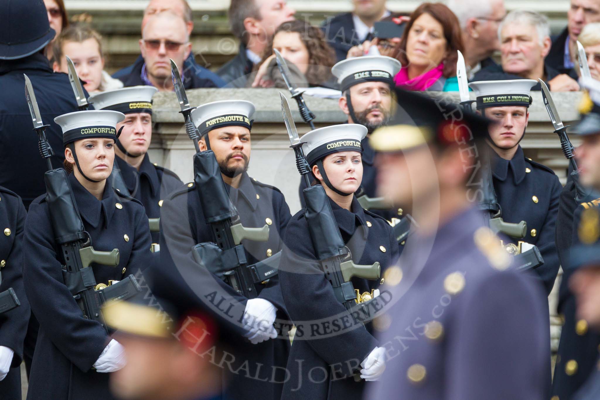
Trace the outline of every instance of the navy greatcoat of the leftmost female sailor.
{"label": "navy greatcoat of the leftmost female sailor", "polygon": [[[115,191],[110,179],[101,201],[73,173],[68,179],[92,246],[98,251],[119,249],[118,266],[92,264],[96,282],[121,280],[148,266],[150,230],[142,204]],[[83,318],[64,284],[64,259],[55,240],[45,195],[29,207],[23,264],[25,290],[32,312],[40,321],[27,398],[112,399],[109,374],[92,369],[110,336],[100,323]]]}

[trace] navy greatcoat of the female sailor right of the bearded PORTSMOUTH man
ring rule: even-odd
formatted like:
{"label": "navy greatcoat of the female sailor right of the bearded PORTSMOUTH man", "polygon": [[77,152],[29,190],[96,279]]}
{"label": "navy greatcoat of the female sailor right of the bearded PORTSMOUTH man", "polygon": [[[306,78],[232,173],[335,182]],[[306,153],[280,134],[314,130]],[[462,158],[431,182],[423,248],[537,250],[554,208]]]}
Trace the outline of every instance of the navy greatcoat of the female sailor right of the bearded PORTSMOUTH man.
{"label": "navy greatcoat of the female sailor right of the bearded PORTSMOUTH man", "polygon": [[[379,261],[383,276],[400,251],[391,226],[362,209],[356,198],[352,212],[331,199],[329,203],[352,260],[367,265]],[[287,363],[291,377],[281,398],[361,399],[364,381],[356,382],[353,375],[379,344],[371,324],[353,324],[351,313],[336,299],[317,260],[304,212],[296,213],[287,225],[279,273],[283,299],[296,326]],[[355,277],[352,283],[363,293],[377,289],[380,280]]]}

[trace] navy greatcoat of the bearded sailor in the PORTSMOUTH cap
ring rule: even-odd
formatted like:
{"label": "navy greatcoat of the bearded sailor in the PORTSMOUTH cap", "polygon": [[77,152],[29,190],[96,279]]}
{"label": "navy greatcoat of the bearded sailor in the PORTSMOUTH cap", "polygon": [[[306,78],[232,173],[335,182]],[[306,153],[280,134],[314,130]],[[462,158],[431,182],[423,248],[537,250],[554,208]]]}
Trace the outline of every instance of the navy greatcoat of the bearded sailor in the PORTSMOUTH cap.
{"label": "navy greatcoat of the bearded sailor in the PORTSMOUTH cap", "polygon": [[[246,173],[238,188],[226,185],[244,227],[269,225],[266,242],[242,240],[248,264],[272,257],[283,247],[283,234],[291,215],[283,194],[270,185],[251,179]],[[210,193],[203,193],[210,196]],[[170,282],[172,290],[190,292],[205,305],[220,329],[220,340],[229,345],[226,351],[212,354],[216,365],[223,368],[224,399],[247,399],[260,393],[265,400],[278,400],[284,368],[289,353],[287,330],[280,338],[251,344],[242,337],[245,331],[238,321],[244,313],[247,299],[225,284],[205,265],[194,258],[192,248],[198,243],[214,242],[211,226],[206,224],[196,184],[185,185],[164,200],[161,209],[160,270],[153,268],[149,281],[151,290],[161,296]],[[277,318],[287,320],[278,278],[260,284],[259,296],[277,308]],[[254,393],[254,394],[253,394]]]}

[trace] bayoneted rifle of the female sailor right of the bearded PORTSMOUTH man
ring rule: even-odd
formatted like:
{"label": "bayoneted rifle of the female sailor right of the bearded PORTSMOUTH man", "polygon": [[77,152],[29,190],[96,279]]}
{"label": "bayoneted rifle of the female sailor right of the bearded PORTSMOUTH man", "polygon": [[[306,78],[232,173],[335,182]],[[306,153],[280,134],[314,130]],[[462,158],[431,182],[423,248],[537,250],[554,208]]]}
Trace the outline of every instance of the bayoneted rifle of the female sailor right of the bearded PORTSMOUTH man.
{"label": "bayoneted rifle of the female sailor right of the bearded PORTSMOUTH man", "polygon": [[[290,143],[296,155],[296,166],[306,166],[304,152],[302,151],[302,142],[298,137],[296,125],[292,119],[289,104],[286,97],[281,95],[281,113],[286,124]],[[307,178],[310,172],[307,168],[300,168],[298,172],[304,178]],[[305,218],[308,222],[308,232],[311,242],[316,251],[316,257],[321,264],[329,283],[331,283],[335,297],[351,310],[355,307],[362,309],[365,315],[365,322],[370,321],[370,312],[368,311],[368,302],[377,296],[374,291],[360,294],[352,284],[351,279],[356,276],[365,279],[379,279],[381,266],[379,262],[372,265],[358,265],[352,261],[352,254],[347,248],[341,237],[340,229],[333,212],[331,204],[322,185],[314,185],[305,188],[302,191],[306,204]]]}

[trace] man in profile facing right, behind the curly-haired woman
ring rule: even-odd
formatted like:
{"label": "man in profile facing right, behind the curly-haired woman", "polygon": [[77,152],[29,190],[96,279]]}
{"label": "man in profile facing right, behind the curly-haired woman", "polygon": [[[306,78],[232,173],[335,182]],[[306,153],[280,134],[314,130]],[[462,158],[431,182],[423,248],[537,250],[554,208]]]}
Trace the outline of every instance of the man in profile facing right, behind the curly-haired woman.
{"label": "man in profile facing right, behind the curly-haired woman", "polygon": [[231,88],[245,88],[248,74],[260,63],[262,53],[282,23],[294,19],[296,10],[280,0],[232,0],[229,25],[239,39],[239,53],[217,74]]}

